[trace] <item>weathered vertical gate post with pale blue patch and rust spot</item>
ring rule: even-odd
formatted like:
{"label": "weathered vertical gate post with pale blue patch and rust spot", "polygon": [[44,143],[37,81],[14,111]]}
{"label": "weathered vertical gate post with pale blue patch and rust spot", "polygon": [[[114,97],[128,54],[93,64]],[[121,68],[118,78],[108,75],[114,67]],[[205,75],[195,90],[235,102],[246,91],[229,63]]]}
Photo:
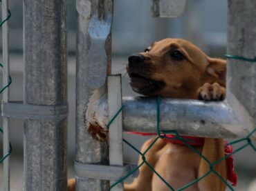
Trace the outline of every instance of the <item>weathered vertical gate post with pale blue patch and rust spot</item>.
{"label": "weathered vertical gate post with pale blue patch and rust spot", "polygon": [[[77,0],[76,149],[75,161],[108,165],[107,132],[93,119],[92,105],[106,92],[111,71],[113,0]],[[98,68],[100,67],[100,68]],[[107,190],[109,181],[82,179],[76,190]]]}

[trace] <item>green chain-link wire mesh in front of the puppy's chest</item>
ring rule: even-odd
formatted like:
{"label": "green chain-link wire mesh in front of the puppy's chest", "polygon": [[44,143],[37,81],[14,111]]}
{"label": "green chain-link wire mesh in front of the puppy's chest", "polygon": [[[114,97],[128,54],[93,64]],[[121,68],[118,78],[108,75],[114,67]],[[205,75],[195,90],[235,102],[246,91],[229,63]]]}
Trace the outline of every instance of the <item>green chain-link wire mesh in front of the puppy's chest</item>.
{"label": "green chain-link wire mesh in front of the puppy's chest", "polygon": [[[165,185],[167,185],[168,188],[170,188],[170,190],[174,190],[174,188],[172,187],[172,185],[170,185],[169,183],[167,183],[167,181],[165,181],[165,179],[163,179],[163,177],[161,177],[160,174],[158,174],[158,172],[156,172],[156,170],[154,170],[154,168],[152,167],[152,165],[150,165],[147,162],[147,159],[145,157],[145,154],[150,150],[150,148],[153,147],[154,143],[156,143],[156,141],[158,139],[175,139],[175,140],[179,140],[182,141],[182,143],[184,143],[184,145],[186,145],[188,148],[190,148],[191,150],[193,150],[196,154],[198,154],[200,157],[202,157],[209,165],[210,170],[208,172],[206,172],[203,176],[199,177],[198,179],[195,179],[194,181],[188,183],[187,185],[184,185],[183,187],[179,188],[178,190],[185,190],[186,188],[188,188],[190,185],[199,182],[201,179],[207,177],[210,173],[214,173],[216,174],[219,179],[221,179],[221,181],[223,181],[223,183],[226,184],[226,186],[228,188],[230,188],[230,190],[234,190],[232,188],[232,186],[225,180],[223,179],[223,177],[221,177],[221,175],[214,170],[214,165],[217,165],[218,163],[220,163],[221,161],[225,160],[226,158],[230,157],[230,155],[235,154],[236,152],[239,152],[239,150],[242,150],[248,146],[250,146],[251,148],[253,148],[253,150],[256,152],[256,148],[255,145],[253,145],[252,140],[250,139],[250,136],[256,131],[253,130],[252,132],[250,132],[248,134],[247,137],[244,137],[242,139],[237,139],[236,141],[232,141],[230,143],[228,143],[228,145],[235,145],[237,143],[241,143],[241,142],[245,142],[243,145],[241,145],[239,148],[237,148],[236,150],[234,150],[232,153],[227,154],[225,157],[222,157],[221,159],[218,159],[217,161],[214,161],[213,163],[211,163],[205,156],[203,156],[203,154],[201,154],[201,152],[199,152],[198,150],[196,150],[192,145],[190,145],[188,142],[192,141],[189,139],[184,139],[183,137],[181,137],[179,135],[179,133],[176,130],[161,130],[160,127],[160,103],[161,103],[161,97],[157,98],[156,101],[156,130],[157,130],[157,137],[154,139],[154,141],[149,145],[149,147],[145,150],[145,152],[140,152],[140,150],[138,150],[134,145],[132,145],[131,143],[129,143],[129,141],[122,139],[123,142],[125,142],[127,145],[129,145],[130,148],[132,148],[135,152],[137,152],[138,154],[140,154],[140,156],[143,159],[143,162],[140,163],[136,168],[134,168],[133,170],[131,170],[131,172],[129,172],[128,174],[126,174],[124,177],[122,177],[121,179],[119,179],[118,181],[116,181],[116,183],[113,183],[109,190],[111,190],[111,188],[113,188],[114,186],[118,185],[118,183],[122,183],[122,181],[124,181],[125,179],[127,179],[127,177],[129,177],[131,174],[134,174],[134,172],[136,172],[136,170],[138,170],[143,164],[147,165],[150,170],[152,170],[152,172],[154,172],[159,179],[161,179],[163,181],[163,183],[165,183]],[[123,110],[123,108],[125,107],[125,104],[122,105],[122,107],[118,110],[118,112],[116,112],[116,114],[114,115],[114,117],[109,121],[109,123],[107,124],[107,128],[109,128],[109,125],[111,125],[111,123],[116,119],[116,117],[118,117],[118,114],[120,114],[120,112]],[[174,138],[170,138],[170,137],[166,137],[167,134],[174,134],[175,137]]]}

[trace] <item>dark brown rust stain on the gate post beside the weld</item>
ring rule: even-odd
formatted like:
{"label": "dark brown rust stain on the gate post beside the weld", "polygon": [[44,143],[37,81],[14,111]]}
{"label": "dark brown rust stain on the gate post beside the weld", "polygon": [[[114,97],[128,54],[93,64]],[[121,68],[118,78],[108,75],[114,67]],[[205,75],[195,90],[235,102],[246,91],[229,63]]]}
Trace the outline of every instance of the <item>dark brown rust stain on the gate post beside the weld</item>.
{"label": "dark brown rust stain on the gate post beside the weld", "polygon": [[89,122],[88,132],[97,141],[105,143],[109,141],[109,131],[102,128],[97,121]]}

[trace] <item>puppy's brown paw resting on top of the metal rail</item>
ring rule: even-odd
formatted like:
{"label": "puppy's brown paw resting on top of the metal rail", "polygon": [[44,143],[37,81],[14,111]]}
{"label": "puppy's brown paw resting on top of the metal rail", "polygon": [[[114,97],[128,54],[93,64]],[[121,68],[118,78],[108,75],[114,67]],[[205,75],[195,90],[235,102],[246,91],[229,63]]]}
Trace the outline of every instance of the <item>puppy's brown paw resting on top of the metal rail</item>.
{"label": "puppy's brown paw resting on top of the metal rail", "polygon": [[203,101],[223,101],[226,98],[226,88],[219,83],[205,83],[197,90],[197,97]]}

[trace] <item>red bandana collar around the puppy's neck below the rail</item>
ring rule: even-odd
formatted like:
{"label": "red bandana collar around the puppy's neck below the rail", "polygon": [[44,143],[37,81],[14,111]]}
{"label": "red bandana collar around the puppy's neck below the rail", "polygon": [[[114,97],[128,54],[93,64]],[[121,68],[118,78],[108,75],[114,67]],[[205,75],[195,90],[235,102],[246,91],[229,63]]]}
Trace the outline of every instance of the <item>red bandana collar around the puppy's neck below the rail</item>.
{"label": "red bandana collar around the puppy's neck below the rail", "polygon": [[[129,134],[138,134],[142,136],[150,136],[150,135],[156,135],[156,133],[147,133],[147,132],[127,132]],[[176,143],[179,145],[184,145],[183,141],[176,139],[175,135],[172,134],[162,134],[166,137],[167,141],[170,141],[171,143]],[[181,136],[189,145],[194,146],[203,146],[204,138],[203,137],[190,137],[190,136]],[[229,155],[233,152],[232,145],[228,145],[228,142],[224,141],[224,151],[226,155]],[[228,172],[228,181],[232,182],[232,186],[237,185],[237,174],[235,173],[234,169],[234,159],[232,155],[229,155],[226,158],[226,165],[227,165],[227,172]]]}

